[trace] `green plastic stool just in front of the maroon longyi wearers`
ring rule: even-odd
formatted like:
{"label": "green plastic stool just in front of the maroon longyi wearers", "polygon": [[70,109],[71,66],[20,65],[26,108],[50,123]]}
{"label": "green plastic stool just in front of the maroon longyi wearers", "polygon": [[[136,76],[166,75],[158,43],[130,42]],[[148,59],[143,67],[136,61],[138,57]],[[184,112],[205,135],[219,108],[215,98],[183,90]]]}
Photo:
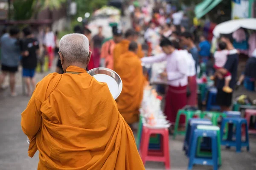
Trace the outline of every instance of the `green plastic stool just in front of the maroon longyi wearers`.
{"label": "green plastic stool just in front of the maroon longyi wearers", "polygon": [[185,136],[185,134],[186,134],[186,128],[185,128],[185,130],[178,131],[178,126],[179,126],[179,122],[180,122],[180,115],[185,115],[186,116],[186,120],[185,120],[186,128],[187,128],[187,124],[189,122],[189,119],[193,118],[193,116],[197,115],[200,118],[204,118],[204,114],[202,114],[202,112],[199,111],[199,110],[198,111],[186,111],[184,109],[180,109],[177,113],[176,120],[175,120],[173,139],[175,139],[176,135]]}

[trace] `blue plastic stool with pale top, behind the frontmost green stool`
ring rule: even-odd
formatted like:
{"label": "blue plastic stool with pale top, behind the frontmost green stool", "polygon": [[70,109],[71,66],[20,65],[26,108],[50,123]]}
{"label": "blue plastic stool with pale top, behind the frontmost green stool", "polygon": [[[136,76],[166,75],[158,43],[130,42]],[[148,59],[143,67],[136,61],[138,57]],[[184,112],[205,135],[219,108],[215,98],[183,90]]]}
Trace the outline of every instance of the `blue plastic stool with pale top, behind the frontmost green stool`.
{"label": "blue plastic stool with pale top, behind the frontmost green stool", "polygon": [[[191,138],[192,138],[192,133],[196,129],[197,125],[212,125],[212,122],[209,119],[196,119],[192,118],[189,119],[189,123],[186,129],[186,136],[184,139],[184,144],[183,144],[183,150],[185,150],[186,155],[189,155],[189,146],[191,145]],[[206,141],[203,142],[203,144]]]}

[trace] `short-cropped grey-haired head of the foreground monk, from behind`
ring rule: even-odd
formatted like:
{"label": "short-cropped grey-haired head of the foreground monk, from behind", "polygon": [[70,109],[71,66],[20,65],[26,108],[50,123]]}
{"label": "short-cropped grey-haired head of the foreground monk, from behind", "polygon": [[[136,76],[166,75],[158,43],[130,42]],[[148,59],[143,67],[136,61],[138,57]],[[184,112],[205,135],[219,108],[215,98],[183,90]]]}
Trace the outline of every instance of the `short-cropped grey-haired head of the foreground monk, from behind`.
{"label": "short-cropped grey-haired head of the foreground monk, from behind", "polygon": [[67,34],[60,40],[58,52],[63,70],[74,65],[86,69],[92,52],[89,51],[89,40],[83,34]]}

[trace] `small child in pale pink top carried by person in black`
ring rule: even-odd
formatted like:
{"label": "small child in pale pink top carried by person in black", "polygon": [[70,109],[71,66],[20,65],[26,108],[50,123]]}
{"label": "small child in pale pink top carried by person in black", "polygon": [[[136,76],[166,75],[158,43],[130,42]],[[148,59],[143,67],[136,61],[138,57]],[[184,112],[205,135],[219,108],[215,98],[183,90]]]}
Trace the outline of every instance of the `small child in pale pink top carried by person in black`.
{"label": "small child in pale pink top carried by person in black", "polygon": [[[215,74],[211,77],[211,79],[214,79],[216,76],[221,74],[218,70],[220,68],[223,68],[225,63],[227,62],[227,55],[229,54],[229,51],[226,50],[227,44],[225,42],[220,42],[218,45],[219,51],[216,51],[214,53],[214,58],[215,58],[215,65],[214,68],[216,69]],[[224,77],[225,79],[225,85],[223,87],[223,91],[226,93],[232,93],[232,88],[229,87],[229,83],[231,80],[231,74],[230,72],[227,72],[225,75],[220,75],[219,77]]]}

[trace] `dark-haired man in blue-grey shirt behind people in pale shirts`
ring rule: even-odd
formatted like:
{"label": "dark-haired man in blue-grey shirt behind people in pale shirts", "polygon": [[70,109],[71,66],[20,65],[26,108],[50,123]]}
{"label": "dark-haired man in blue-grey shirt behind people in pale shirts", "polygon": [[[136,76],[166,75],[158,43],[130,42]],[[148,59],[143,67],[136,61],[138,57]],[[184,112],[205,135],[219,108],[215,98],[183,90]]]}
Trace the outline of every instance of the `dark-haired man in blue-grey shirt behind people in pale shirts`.
{"label": "dark-haired man in blue-grey shirt behind people in pale shirts", "polygon": [[195,46],[195,43],[193,41],[193,36],[190,32],[183,32],[180,35],[180,40],[183,45],[187,46],[187,50],[190,54],[192,54],[193,59],[195,60],[195,71],[197,73],[197,67],[199,64],[199,55],[198,55],[198,49]]}

